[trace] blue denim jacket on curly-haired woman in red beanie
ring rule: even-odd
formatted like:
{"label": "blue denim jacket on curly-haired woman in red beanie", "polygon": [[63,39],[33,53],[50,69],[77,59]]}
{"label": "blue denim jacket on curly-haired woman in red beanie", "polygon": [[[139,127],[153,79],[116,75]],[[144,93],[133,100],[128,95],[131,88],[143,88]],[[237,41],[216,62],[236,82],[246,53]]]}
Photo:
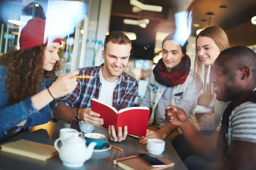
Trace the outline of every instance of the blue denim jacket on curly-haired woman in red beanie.
{"label": "blue denim jacket on curly-haired woman in red beanie", "polygon": [[[52,117],[49,104],[40,111],[37,111],[32,103],[32,97],[9,106],[9,96],[6,94],[7,79],[5,77],[6,67],[0,66],[0,139],[5,139],[6,130],[15,127],[23,120],[26,120],[23,129],[49,122]],[[45,80],[42,81],[39,92],[44,89]]]}

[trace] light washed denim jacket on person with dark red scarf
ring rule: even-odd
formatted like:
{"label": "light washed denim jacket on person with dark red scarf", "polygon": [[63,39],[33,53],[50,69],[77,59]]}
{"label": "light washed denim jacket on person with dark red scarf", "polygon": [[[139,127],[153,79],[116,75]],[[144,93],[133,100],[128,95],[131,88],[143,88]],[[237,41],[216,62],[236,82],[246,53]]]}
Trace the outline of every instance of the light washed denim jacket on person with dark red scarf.
{"label": "light washed denim jacket on person with dark red scarf", "polygon": [[[189,72],[188,77],[186,78],[186,81],[183,84],[177,85],[173,87],[173,92],[172,92],[172,102],[169,105],[174,105],[176,107],[180,107],[181,105],[187,105],[186,103],[183,103],[183,96],[184,94],[188,93],[186,92],[187,88],[189,85],[192,84],[193,81],[196,81],[195,78],[193,77],[193,70]],[[199,88],[199,87],[198,87]],[[147,89],[145,92],[145,95],[143,97],[142,102],[140,103],[140,106],[146,106],[148,108],[152,109],[151,116],[148,121],[148,126],[153,125],[154,119],[155,119],[155,108],[157,106],[157,103],[159,102],[161,96],[163,95],[163,92],[165,91],[166,86],[159,84],[155,79],[154,79],[154,74],[153,72],[151,73],[150,79],[148,81]],[[194,101],[193,103],[189,103],[192,105],[192,111],[190,113],[186,113],[190,122],[198,129],[200,130],[200,127],[195,119],[195,108],[197,105],[197,99],[199,96],[199,89],[198,91],[192,92],[193,96],[191,96],[191,101]],[[164,113],[163,113],[164,114]],[[181,130],[178,128],[178,131],[180,133]]]}

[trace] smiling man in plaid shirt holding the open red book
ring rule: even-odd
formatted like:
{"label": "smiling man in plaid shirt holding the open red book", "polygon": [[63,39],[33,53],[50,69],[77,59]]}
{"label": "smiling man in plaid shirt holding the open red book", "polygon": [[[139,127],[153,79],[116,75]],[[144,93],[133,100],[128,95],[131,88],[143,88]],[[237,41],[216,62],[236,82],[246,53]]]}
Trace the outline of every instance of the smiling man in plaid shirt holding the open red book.
{"label": "smiling man in plaid shirt holding the open red book", "polygon": [[[121,31],[113,31],[105,38],[102,58],[105,62],[97,67],[80,68],[81,76],[94,79],[78,79],[76,89],[67,96],[56,100],[54,116],[56,119],[78,124],[80,120],[93,125],[103,125],[99,113],[90,108],[90,99],[112,105],[117,110],[134,105],[138,83],[136,79],[123,72],[131,51],[131,40]],[[108,128],[113,141],[122,141],[127,136],[127,127],[118,128],[116,135],[113,126]]]}

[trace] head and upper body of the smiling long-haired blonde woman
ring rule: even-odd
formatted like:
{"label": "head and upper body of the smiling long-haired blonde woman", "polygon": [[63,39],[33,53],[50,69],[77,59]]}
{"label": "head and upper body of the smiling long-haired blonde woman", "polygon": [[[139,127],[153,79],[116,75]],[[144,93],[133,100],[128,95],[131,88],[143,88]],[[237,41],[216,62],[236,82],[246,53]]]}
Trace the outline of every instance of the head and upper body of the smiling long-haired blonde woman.
{"label": "head and upper body of the smiling long-haired blonde woman", "polygon": [[[212,66],[215,59],[225,49],[229,48],[229,41],[226,33],[218,26],[210,26],[201,31],[196,37],[194,76],[197,78],[197,84],[204,82],[204,94],[209,94],[214,100],[214,124],[213,130],[218,126],[221,116],[227,108],[229,102],[220,102],[216,100],[213,85],[211,83]],[[207,80],[209,83],[207,84]]]}

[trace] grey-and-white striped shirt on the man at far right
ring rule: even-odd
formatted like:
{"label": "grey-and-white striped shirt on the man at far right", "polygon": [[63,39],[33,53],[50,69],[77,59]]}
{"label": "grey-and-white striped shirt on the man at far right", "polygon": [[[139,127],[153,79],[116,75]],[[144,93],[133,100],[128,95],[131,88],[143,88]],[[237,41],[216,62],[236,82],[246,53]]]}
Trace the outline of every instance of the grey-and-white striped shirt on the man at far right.
{"label": "grey-and-white striped shirt on the man at far right", "polygon": [[231,140],[256,142],[256,103],[242,103],[231,112],[226,137],[229,146]]}

